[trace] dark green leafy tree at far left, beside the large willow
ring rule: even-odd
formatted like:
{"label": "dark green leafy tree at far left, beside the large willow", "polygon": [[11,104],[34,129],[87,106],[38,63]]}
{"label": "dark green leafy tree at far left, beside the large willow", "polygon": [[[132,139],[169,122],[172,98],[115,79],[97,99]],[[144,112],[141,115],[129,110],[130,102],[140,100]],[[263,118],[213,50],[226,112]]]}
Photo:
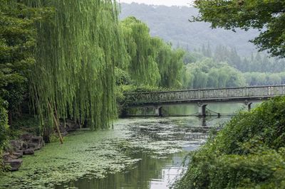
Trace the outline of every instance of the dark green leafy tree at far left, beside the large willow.
{"label": "dark green leafy tree at far left, beside the large willow", "polygon": [[11,119],[24,99],[27,77],[35,63],[34,23],[47,19],[51,10],[33,9],[16,0],[1,0],[0,4],[0,97],[9,102]]}

